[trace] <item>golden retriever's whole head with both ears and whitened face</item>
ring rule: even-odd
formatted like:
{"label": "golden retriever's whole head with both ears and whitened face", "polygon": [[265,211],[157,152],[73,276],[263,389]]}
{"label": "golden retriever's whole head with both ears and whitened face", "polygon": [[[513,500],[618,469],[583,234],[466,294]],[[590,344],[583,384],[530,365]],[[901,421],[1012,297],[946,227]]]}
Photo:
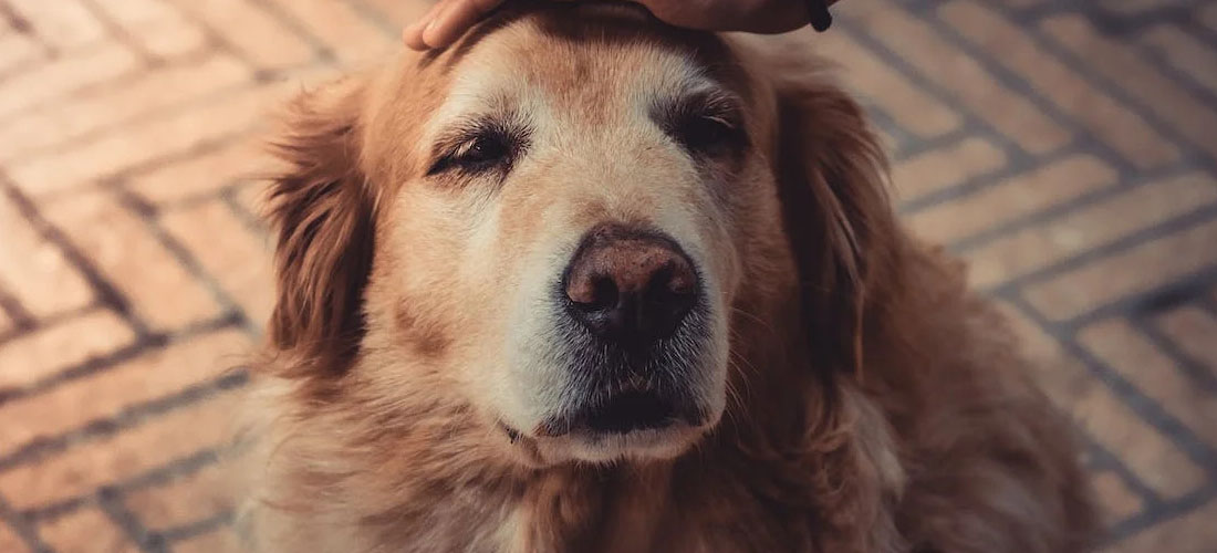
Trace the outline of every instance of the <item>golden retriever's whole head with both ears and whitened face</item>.
{"label": "golden retriever's whole head with both ears and whitened face", "polygon": [[736,326],[776,325],[746,305],[801,301],[817,369],[859,363],[880,156],[807,63],[532,6],[303,96],[279,151],[271,339],[369,410],[459,405],[544,463],[673,457],[747,378]]}

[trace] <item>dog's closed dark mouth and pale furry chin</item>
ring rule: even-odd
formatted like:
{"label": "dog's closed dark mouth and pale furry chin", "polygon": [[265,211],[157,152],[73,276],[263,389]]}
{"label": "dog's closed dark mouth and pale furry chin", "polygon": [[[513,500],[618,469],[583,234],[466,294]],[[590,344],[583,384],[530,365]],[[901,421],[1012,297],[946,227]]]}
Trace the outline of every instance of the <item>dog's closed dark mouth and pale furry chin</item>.
{"label": "dog's closed dark mouth and pale furry chin", "polygon": [[675,343],[640,359],[606,348],[567,349],[581,355],[567,355],[574,359],[559,366],[562,380],[542,386],[561,391],[521,401],[549,408],[499,424],[533,465],[679,457],[723,416],[727,349],[699,335]]}

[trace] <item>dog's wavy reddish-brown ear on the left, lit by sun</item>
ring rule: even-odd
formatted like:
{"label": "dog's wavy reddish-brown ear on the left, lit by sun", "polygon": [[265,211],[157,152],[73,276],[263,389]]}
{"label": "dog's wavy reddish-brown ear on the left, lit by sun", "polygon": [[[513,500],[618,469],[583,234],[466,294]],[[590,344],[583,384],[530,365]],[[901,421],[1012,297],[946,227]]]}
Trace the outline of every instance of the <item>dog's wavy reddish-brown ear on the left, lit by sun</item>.
{"label": "dog's wavy reddish-brown ear on the left, lit by sun", "polygon": [[282,376],[341,374],[364,335],[375,224],[359,159],[361,96],[349,83],[302,94],[271,142],[286,162],[269,191],[279,288],[269,338],[292,360],[275,363]]}

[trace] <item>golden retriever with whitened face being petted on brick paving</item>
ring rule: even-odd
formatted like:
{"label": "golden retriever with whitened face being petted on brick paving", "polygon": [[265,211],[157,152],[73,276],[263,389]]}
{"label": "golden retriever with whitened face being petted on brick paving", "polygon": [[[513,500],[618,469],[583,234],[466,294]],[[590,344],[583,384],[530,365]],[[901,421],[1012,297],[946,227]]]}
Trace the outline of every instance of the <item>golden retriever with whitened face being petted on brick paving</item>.
{"label": "golden retriever with whitened face being petted on brick paving", "polygon": [[1070,425],[787,38],[504,10],[303,95],[259,552],[1078,552]]}

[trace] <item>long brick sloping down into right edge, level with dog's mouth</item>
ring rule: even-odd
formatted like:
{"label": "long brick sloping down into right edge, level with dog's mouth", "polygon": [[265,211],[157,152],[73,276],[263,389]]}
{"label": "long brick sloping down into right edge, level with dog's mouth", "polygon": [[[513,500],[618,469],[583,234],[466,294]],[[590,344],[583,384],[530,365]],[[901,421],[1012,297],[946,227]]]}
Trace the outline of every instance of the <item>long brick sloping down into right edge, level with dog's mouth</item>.
{"label": "long brick sloping down into right edge, level with dog's mouth", "polygon": [[[1212,342],[1210,334],[1206,338]],[[1217,445],[1217,396],[1188,378],[1166,354],[1123,320],[1083,329],[1078,342],[1167,413],[1208,444]]]}

